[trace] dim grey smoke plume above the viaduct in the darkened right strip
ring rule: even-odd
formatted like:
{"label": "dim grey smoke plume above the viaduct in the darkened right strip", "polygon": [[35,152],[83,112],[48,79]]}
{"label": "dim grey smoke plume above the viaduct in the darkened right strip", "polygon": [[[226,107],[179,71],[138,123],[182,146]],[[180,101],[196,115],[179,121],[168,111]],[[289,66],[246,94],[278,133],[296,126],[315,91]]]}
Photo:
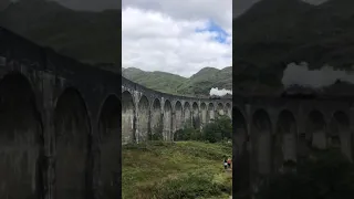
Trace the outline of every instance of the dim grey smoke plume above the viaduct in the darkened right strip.
{"label": "dim grey smoke plume above the viaduct in the darkened right strip", "polygon": [[354,84],[354,73],[344,70],[335,70],[325,65],[321,70],[309,70],[305,62],[288,64],[283,71],[282,84],[284,87],[298,84],[301,86],[320,88],[335,83],[336,80]]}

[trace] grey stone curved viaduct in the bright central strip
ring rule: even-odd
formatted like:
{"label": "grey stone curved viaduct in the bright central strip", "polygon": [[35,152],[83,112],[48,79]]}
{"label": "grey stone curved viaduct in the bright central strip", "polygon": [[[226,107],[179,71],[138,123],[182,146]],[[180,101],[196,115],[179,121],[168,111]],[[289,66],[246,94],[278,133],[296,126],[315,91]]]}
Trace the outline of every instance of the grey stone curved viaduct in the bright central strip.
{"label": "grey stone curved viaduct in the bright central strip", "polygon": [[231,118],[232,100],[209,100],[170,95],[122,80],[122,143],[139,143],[160,134],[174,140],[178,129],[191,125],[201,129],[218,115]]}

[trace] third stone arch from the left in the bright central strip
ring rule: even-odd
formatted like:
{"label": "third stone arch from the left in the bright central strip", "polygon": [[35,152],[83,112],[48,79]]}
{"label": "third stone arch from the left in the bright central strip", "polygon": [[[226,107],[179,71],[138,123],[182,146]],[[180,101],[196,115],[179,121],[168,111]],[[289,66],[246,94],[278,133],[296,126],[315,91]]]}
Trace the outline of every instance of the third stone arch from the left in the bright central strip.
{"label": "third stone arch from the left in the bright central strip", "polygon": [[163,134],[163,113],[162,104],[158,98],[154,100],[152,107],[152,134],[162,135]]}

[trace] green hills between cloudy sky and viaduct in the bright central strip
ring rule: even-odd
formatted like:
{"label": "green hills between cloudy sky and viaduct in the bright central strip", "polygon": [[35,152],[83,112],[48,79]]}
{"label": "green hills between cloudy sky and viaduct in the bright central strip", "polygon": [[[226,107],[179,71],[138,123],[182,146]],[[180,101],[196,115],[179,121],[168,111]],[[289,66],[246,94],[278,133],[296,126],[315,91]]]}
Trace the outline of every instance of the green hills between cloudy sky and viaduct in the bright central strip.
{"label": "green hills between cloudy sky and viaduct in the bright central strip", "polygon": [[165,73],[123,69],[123,76],[146,87],[164,93],[186,96],[209,96],[211,87],[232,90],[232,66],[218,70],[204,67],[189,78]]}

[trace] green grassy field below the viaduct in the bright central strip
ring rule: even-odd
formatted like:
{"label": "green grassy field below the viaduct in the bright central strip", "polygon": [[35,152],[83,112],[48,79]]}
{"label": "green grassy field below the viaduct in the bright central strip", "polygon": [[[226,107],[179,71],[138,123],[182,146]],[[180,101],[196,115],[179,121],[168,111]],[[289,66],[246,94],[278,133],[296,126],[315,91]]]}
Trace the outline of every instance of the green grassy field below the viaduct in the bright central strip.
{"label": "green grassy field below the viaduct in the bright central strip", "polygon": [[132,199],[229,198],[231,171],[222,168],[231,144],[148,143],[123,147],[122,196]]}

